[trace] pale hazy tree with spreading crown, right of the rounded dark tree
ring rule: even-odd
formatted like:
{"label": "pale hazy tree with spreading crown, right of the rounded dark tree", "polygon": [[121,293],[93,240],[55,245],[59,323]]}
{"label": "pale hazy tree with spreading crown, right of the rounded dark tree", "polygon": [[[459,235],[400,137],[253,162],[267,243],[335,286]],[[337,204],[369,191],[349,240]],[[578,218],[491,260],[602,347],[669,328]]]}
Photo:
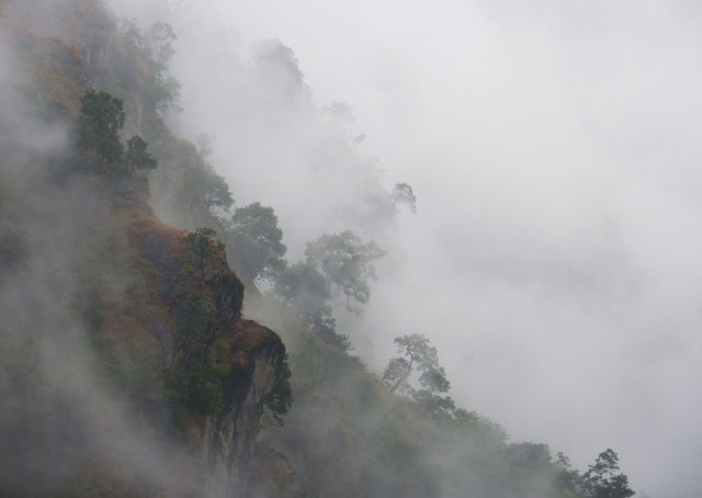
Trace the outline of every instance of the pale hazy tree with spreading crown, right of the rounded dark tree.
{"label": "pale hazy tree with spreading crown, right of the rounded dark tree", "polygon": [[374,241],[364,244],[351,230],[341,234],[325,234],[317,240],[307,242],[307,263],[316,268],[325,279],[347,298],[347,308],[352,308],[350,299],[365,304],[371,297],[369,279],[375,280],[373,263],[385,256]]}

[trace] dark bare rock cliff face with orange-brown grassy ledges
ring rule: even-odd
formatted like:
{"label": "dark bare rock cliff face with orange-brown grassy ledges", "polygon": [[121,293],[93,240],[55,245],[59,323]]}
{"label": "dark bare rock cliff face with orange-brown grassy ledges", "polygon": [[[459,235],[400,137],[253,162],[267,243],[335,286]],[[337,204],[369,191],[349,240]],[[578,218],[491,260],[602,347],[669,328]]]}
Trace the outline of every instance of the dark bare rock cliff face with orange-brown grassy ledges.
{"label": "dark bare rock cliff face with orange-brown grassy ledges", "polygon": [[[154,291],[167,308],[166,319],[151,319],[149,332],[162,348],[163,364],[176,369],[213,350],[224,361],[224,408],[215,416],[193,418],[191,444],[206,469],[207,497],[226,498],[246,487],[264,396],[281,375],[285,348],[275,332],[241,318],[244,285],[217,252],[205,262],[205,278],[193,264],[185,233],[150,215],[125,210],[124,229],[135,257],[152,272]],[[192,337],[189,296],[202,293],[212,319]],[[188,337],[188,336],[191,337]]]}

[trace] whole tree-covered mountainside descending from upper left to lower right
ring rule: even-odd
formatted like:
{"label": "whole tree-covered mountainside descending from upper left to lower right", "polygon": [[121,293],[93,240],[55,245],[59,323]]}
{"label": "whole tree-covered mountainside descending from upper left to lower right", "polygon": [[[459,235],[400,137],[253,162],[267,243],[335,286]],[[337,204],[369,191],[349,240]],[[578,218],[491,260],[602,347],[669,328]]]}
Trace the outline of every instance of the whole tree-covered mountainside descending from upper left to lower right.
{"label": "whole tree-covered mountainside descending from upper left to lower right", "polygon": [[0,1],[0,496],[633,496],[613,450],[577,469],[460,406],[426,335],[398,331],[381,372],[355,354],[421,197],[261,42],[246,118],[324,129],[299,161],[336,203],[337,229],[288,242],[270,195],[236,202],[257,193],[217,170],[226,136],[171,127],[177,37],[100,0]]}

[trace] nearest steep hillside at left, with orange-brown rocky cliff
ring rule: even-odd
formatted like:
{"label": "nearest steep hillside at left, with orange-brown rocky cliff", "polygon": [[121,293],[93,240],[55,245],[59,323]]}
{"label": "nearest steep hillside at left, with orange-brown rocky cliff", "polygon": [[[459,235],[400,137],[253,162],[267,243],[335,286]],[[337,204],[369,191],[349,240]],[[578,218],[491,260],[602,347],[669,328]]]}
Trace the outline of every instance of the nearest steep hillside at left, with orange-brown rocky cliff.
{"label": "nearest steep hillside at left, with orange-brown rocky cliff", "polygon": [[112,34],[53,30],[114,21],[97,2],[54,3],[45,24],[26,7],[2,12],[0,495],[231,496],[285,348],[241,318],[216,240],[163,225],[145,172],[80,145]]}

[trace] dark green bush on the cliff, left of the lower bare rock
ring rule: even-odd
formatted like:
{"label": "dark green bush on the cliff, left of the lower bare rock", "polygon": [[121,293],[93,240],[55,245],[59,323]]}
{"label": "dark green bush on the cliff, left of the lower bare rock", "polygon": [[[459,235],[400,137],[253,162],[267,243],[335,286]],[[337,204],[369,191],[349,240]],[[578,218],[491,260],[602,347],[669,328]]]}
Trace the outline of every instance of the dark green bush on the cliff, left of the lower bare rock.
{"label": "dark green bush on the cliff, left of the lower bare rock", "polygon": [[211,356],[179,370],[166,392],[177,416],[185,412],[217,415],[224,408],[223,367]]}

